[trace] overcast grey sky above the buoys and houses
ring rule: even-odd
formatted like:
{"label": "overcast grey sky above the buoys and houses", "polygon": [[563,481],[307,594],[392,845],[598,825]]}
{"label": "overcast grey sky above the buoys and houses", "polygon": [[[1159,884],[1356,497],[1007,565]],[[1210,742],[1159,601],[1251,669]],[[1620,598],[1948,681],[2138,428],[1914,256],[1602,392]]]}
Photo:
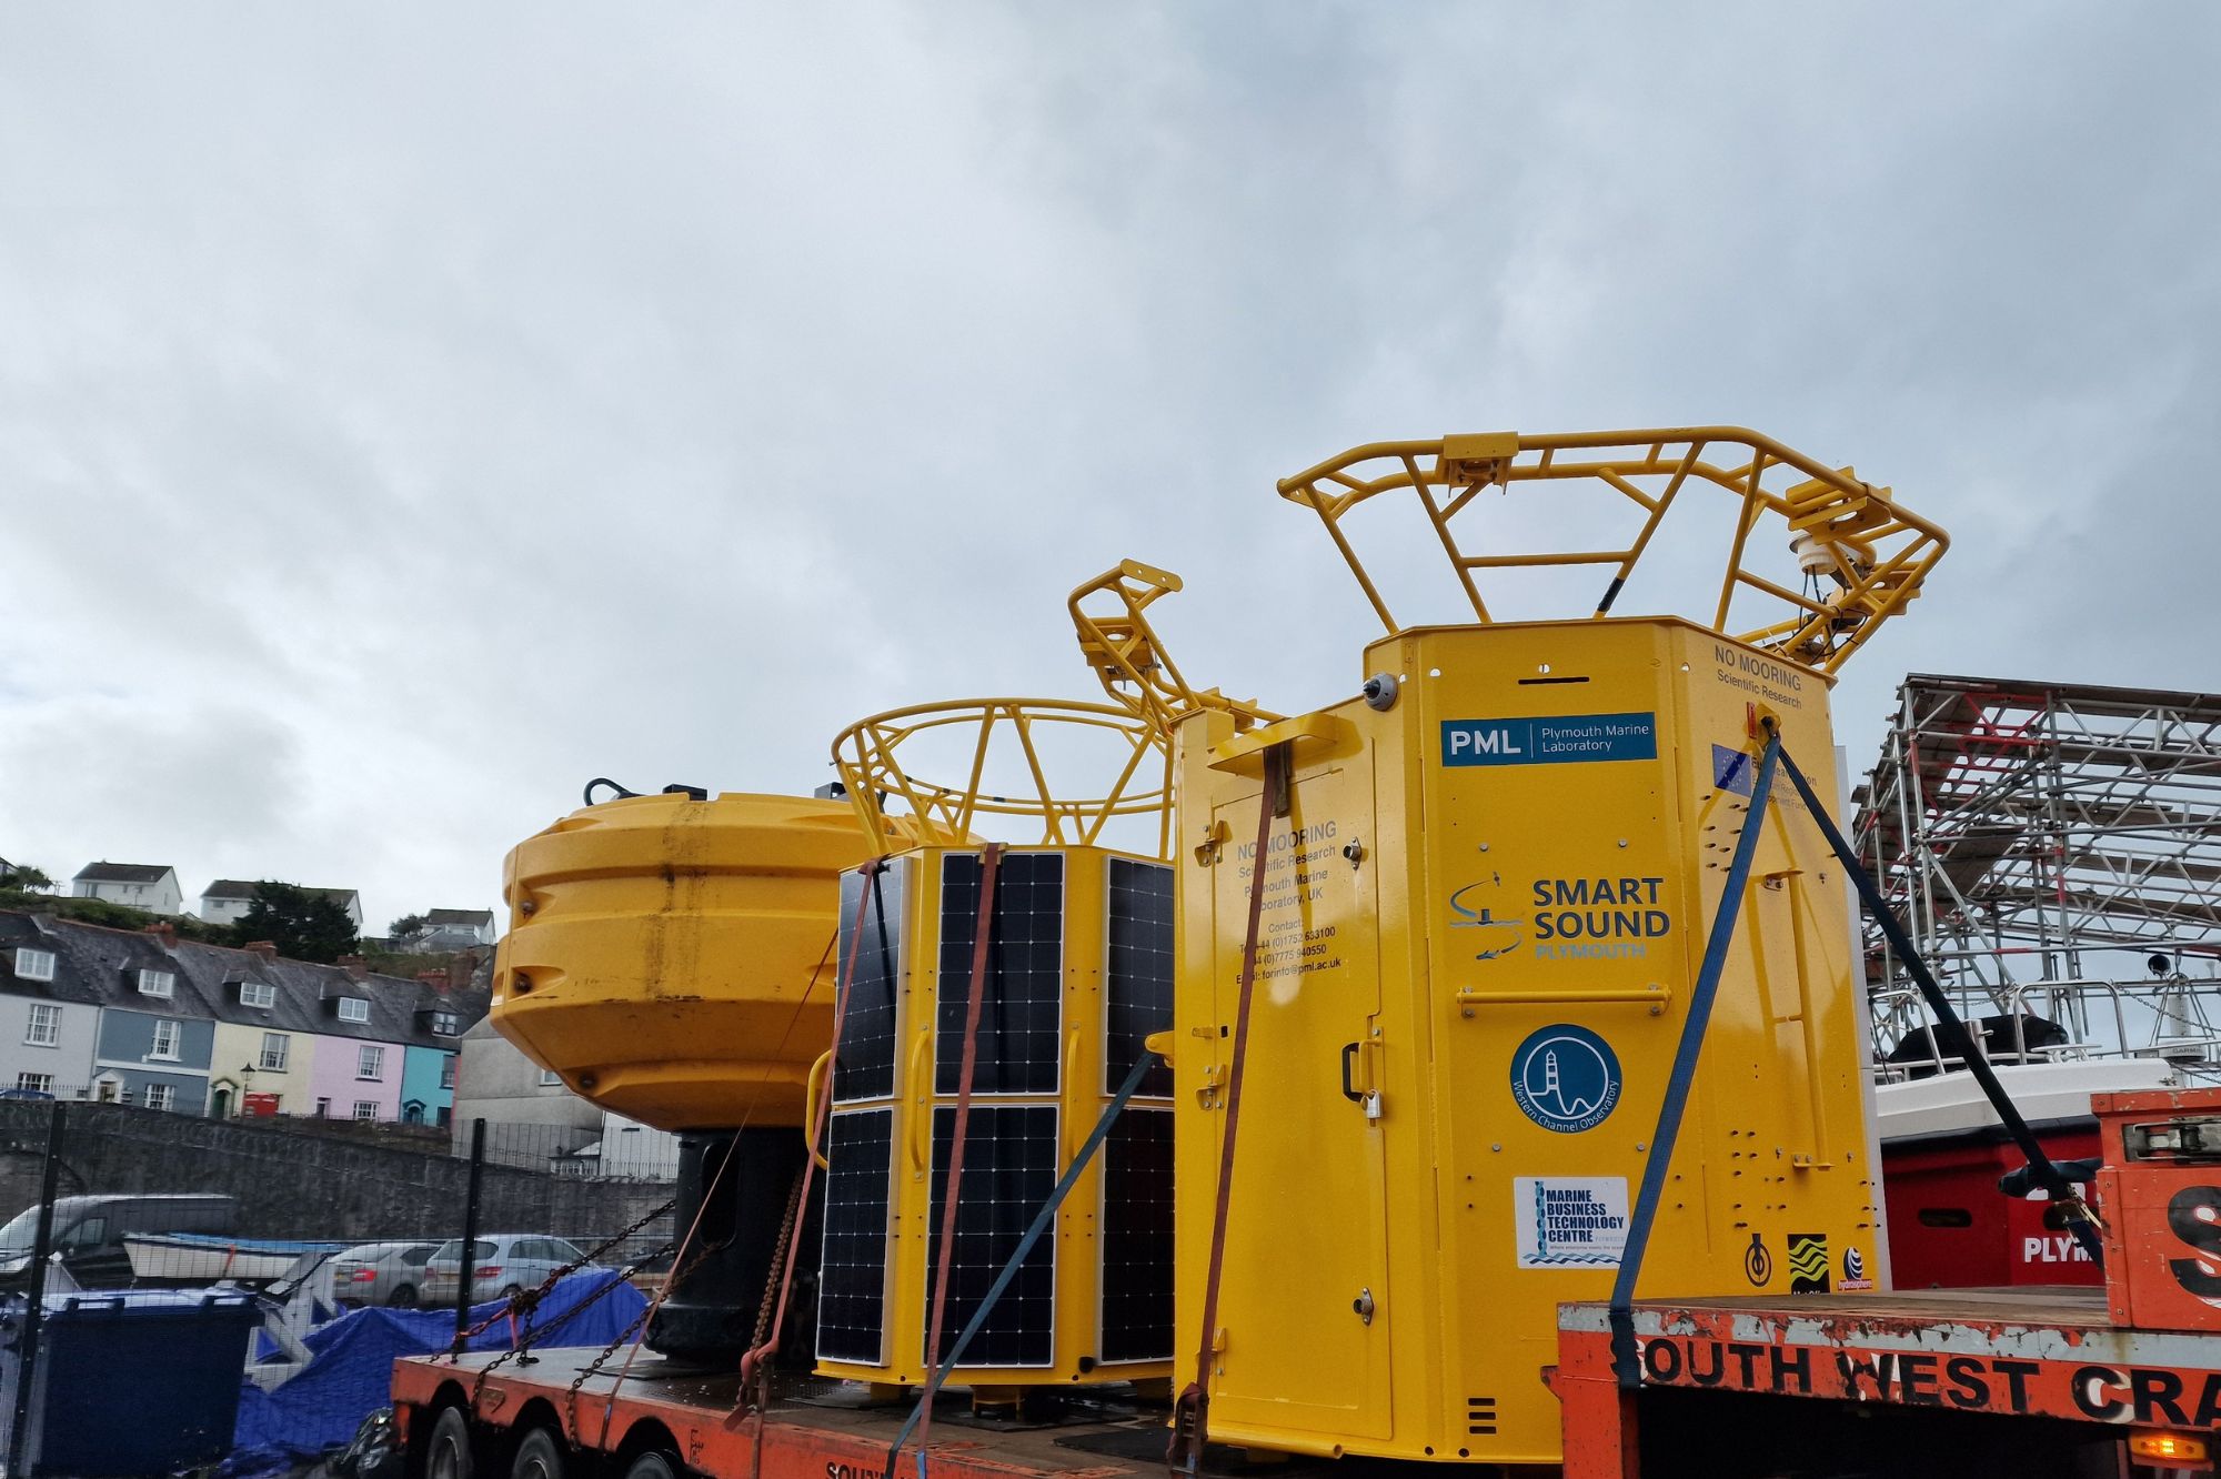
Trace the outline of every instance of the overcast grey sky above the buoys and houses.
{"label": "overcast grey sky above the buoys and houses", "polygon": [[1122,555],[1339,700],[1273,482],[1446,431],[1937,517],[1861,766],[1908,668],[2217,688],[2221,9],[1937,9],[11,4],[0,855],[493,906],[593,775],[1088,693]]}

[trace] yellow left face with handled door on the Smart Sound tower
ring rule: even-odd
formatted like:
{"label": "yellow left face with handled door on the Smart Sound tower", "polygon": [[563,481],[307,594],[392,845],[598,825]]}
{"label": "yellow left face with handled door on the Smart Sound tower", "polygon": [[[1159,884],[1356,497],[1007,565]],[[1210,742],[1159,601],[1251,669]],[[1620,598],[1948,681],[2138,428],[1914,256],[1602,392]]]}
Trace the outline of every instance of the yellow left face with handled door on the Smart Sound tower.
{"label": "yellow left face with handled door on the Smart Sound tower", "polygon": [[[1239,748],[1239,746],[1237,746]],[[1388,1213],[1381,1099],[1379,899],[1375,868],[1357,866],[1373,837],[1373,771],[1333,746],[1295,746],[1286,815],[1257,855],[1264,799],[1255,751],[1222,757],[1210,808],[1208,868],[1190,868],[1179,990],[1208,984],[1206,1013],[1186,1024],[1175,1068],[1224,1126],[1226,1084],[1248,937],[1250,888],[1264,891],[1250,999],[1242,1126],[1219,1275],[1222,1346],[1213,1357],[1213,1430],[1262,1426],[1333,1435],[1388,1421]],[[1199,1053],[1188,1053],[1190,1044]],[[1202,1148],[1204,1137],[1188,1137]],[[1219,1135],[1182,1164],[1179,1266],[1202,1268],[1210,1239]],[[1193,1208],[1193,1210],[1190,1210]],[[1184,1299],[1197,1290],[1184,1279]],[[1179,1330],[1197,1328],[1197,1306]],[[1182,1350],[1186,1355],[1186,1350]]]}

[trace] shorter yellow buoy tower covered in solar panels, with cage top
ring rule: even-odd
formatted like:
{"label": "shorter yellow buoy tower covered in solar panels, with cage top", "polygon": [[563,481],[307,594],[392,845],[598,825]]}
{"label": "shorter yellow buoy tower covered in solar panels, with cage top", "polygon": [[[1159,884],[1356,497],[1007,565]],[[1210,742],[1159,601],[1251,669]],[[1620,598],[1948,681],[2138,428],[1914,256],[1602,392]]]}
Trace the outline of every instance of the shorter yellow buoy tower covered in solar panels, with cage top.
{"label": "shorter yellow buoy tower covered in solar panels, with cage top", "polygon": [[[840,1028],[813,1075],[817,1370],[922,1386],[1170,1024],[1166,748],[1113,704],[968,700],[862,720],[833,755],[862,835],[913,842],[842,877]],[[975,1399],[1166,1377],[1166,1079],[1142,1084],[955,1366]]]}

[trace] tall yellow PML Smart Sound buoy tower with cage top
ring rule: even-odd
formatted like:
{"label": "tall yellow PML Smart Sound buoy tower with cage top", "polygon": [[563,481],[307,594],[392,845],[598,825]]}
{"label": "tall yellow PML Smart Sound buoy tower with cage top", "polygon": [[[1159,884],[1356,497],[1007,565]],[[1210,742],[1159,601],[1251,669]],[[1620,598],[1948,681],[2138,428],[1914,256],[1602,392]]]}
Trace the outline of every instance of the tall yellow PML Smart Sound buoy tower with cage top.
{"label": "tall yellow PML Smart Sound buoy tower with cage top", "polygon": [[[1177,1379],[1217,1443],[1555,1463],[1555,1312],[1612,1288],[1761,720],[1832,795],[1832,673],[1943,535],[1739,429],[1384,442],[1279,491],[1386,635],[1359,697],[1177,724]],[[1359,560],[1390,502],[1455,624]],[[1646,551],[1712,562],[1695,617],[1619,613]],[[1586,600],[1508,620],[1513,577]],[[1779,793],[1757,848],[1646,1295],[1879,1266],[1846,879]]]}

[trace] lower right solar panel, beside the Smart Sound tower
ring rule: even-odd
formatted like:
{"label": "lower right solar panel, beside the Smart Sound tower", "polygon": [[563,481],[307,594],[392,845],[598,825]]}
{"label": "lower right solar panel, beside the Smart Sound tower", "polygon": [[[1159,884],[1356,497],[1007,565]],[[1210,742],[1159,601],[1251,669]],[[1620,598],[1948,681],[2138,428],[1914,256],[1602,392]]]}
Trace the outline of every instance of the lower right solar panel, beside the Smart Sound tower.
{"label": "lower right solar panel, beside the Smart Sound tower", "polygon": [[1173,1357],[1173,1110],[1128,1106],[1104,1157],[1099,1359]]}

